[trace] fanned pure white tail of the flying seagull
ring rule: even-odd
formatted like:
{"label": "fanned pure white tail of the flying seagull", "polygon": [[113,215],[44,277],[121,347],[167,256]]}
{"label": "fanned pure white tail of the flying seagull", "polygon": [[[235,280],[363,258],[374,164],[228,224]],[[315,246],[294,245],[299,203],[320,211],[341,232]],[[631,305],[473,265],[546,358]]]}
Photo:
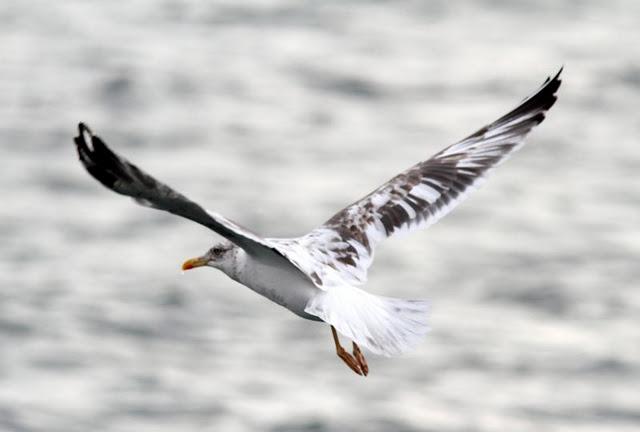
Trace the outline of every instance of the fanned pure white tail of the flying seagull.
{"label": "fanned pure white tail of the flying seagull", "polygon": [[425,300],[402,300],[336,286],[312,298],[305,312],[333,325],[341,334],[387,357],[414,348],[429,331]]}

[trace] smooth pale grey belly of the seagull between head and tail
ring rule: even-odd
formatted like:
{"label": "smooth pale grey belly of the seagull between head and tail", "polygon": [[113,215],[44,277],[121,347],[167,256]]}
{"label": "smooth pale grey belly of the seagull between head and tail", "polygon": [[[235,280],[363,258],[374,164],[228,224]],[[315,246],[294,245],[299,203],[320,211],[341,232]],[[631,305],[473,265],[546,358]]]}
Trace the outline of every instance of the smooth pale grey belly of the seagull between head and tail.
{"label": "smooth pale grey belly of the seagull between head and tail", "polygon": [[265,264],[248,260],[238,281],[302,318],[320,321],[304,309],[321,290],[289,262]]}

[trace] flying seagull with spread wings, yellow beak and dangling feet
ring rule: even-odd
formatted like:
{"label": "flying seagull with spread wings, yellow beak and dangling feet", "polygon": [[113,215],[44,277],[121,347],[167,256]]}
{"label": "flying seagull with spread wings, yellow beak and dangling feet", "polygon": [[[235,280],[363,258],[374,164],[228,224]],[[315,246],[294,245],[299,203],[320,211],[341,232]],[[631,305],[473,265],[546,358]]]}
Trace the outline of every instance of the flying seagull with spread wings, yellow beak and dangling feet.
{"label": "flying seagull with spread wings, yellow beak and dangling feet", "polygon": [[[392,235],[428,227],[451,211],[487,173],[524,144],[556,101],[562,68],[515,109],[467,138],[393,177],[324,224],[295,238],[261,237],[205,210],[112,151],[80,123],[74,138],[84,168],[138,204],[197,222],[225,240],[184,262],[183,270],[213,267],[294,314],[324,322],[338,357],[356,374],[369,366],[360,346],[396,356],[429,330],[429,303],[361,289],[375,247]],[[338,333],[352,341],[348,352]]]}

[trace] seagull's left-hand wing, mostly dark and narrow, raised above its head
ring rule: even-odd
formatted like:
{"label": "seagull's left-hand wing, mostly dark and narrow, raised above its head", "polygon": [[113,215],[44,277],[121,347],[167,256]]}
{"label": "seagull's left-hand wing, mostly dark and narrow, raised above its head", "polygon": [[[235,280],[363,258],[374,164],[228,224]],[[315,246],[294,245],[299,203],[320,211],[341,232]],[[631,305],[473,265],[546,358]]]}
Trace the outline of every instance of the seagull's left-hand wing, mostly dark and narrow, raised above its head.
{"label": "seagull's left-hand wing, mostly dark and narrow, raised above its head", "polygon": [[93,178],[112,191],[130,196],[143,206],[168,211],[204,225],[249,253],[275,250],[258,235],[203,209],[117,155],[84,123],[78,125],[78,136],[74,141],[82,165]]}

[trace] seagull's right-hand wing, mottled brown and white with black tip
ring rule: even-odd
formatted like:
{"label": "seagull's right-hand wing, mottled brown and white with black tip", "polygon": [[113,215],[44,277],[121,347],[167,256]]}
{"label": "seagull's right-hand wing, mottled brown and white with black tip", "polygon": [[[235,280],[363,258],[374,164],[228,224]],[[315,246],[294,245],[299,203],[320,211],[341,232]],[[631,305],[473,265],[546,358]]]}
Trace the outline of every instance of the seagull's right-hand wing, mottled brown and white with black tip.
{"label": "seagull's right-hand wing, mottled brown and white with black tip", "polygon": [[306,249],[312,261],[324,264],[317,266],[324,269],[320,280],[363,284],[378,242],[437,222],[524,143],[555,103],[561,72],[508,114],[395,176],[288,247]]}

